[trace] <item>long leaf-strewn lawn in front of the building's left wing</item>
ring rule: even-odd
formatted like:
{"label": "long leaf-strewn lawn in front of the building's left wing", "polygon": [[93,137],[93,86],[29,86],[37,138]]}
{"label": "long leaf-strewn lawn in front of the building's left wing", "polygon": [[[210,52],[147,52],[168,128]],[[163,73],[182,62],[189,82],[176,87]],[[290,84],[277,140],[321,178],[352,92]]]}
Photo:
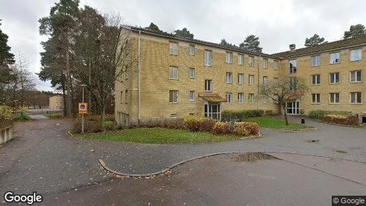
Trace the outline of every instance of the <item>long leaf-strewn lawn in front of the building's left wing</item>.
{"label": "long leaf-strewn lawn in front of the building's left wing", "polygon": [[130,128],[103,133],[88,133],[77,137],[128,141],[145,144],[197,144],[238,139],[234,135],[212,135],[207,132],[189,132],[169,128]]}

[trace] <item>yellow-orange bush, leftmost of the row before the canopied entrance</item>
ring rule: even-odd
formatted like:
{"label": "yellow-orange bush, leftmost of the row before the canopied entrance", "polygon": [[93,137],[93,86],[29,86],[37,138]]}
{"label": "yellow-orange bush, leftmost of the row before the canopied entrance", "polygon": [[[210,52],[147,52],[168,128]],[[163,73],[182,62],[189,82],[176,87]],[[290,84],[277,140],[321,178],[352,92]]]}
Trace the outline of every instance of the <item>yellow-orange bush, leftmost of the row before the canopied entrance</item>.
{"label": "yellow-orange bush, leftmost of the row before the canopied entrance", "polygon": [[186,116],[183,118],[184,128],[187,130],[197,132],[197,131],[207,131],[210,132],[215,124],[214,119],[203,116]]}

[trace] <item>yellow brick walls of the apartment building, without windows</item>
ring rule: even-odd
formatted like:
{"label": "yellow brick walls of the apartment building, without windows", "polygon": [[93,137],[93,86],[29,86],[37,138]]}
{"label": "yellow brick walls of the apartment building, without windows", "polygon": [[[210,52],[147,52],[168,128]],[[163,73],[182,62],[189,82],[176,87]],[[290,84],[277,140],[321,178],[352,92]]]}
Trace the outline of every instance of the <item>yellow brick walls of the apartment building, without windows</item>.
{"label": "yellow brick walls of the apartment building, without windows", "polygon": [[[138,47],[140,41],[140,47]],[[359,83],[350,83],[350,71],[362,70],[366,67],[366,61],[350,62],[350,49],[341,49],[341,62],[331,65],[329,53],[321,55],[321,65],[311,66],[311,56],[297,56],[295,58],[275,58],[269,55],[250,54],[239,52],[235,49],[226,49],[209,43],[198,41],[187,41],[185,39],[150,34],[148,32],[131,32],[130,42],[133,45],[133,57],[138,57],[140,49],[140,101],[138,101],[138,62],[130,68],[127,76],[121,77],[121,82],[115,86],[115,113],[119,123],[138,121],[140,119],[169,118],[171,115],[184,117],[194,113],[204,115],[204,100],[199,94],[205,93],[205,80],[212,80],[212,93],[217,93],[225,98],[225,93],[232,93],[232,103],[221,103],[221,111],[262,109],[280,113],[280,106],[273,104],[273,100],[254,99],[249,104],[249,93],[257,95],[258,84],[263,84],[263,77],[267,76],[269,82],[289,73],[289,60],[297,60],[297,73],[293,75],[302,76],[308,80],[311,91],[300,100],[300,109],[305,113],[315,109],[352,111],[354,113],[365,113],[365,77]],[[169,43],[178,43],[178,55],[169,52]],[[195,54],[189,54],[189,46],[195,46]],[[205,50],[212,51],[212,65],[204,64]],[[366,57],[366,47],[362,47],[362,56]],[[232,63],[226,63],[226,52],[232,52]],[[244,57],[243,65],[238,64],[238,55]],[[254,57],[254,65],[249,67],[249,56]],[[263,59],[268,60],[268,67],[263,68]],[[278,61],[278,69],[273,68],[273,62]],[[178,67],[178,79],[169,79],[169,67]],[[189,78],[189,68],[195,69],[195,78]],[[225,81],[227,72],[232,73],[232,83]],[[340,72],[341,82],[339,84],[329,83],[329,73]],[[238,84],[238,74],[244,74],[244,83]],[[320,74],[321,84],[311,85],[311,75]],[[254,84],[249,85],[249,75],[254,76]],[[169,90],[178,90],[178,103],[169,103]],[[127,95],[126,95],[127,91]],[[195,101],[189,100],[189,92],[195,91]],[[350,92],[362,92],[363,101],[361,104],[350,104]],[[340,93],[339,104],[330,104],[329,93]],[[243,93],[243,104],[239,104],[238,93]],[[311,93],[320,93],[320,104],[312,104]],[[138,104],[140,102],[140,105]]]}

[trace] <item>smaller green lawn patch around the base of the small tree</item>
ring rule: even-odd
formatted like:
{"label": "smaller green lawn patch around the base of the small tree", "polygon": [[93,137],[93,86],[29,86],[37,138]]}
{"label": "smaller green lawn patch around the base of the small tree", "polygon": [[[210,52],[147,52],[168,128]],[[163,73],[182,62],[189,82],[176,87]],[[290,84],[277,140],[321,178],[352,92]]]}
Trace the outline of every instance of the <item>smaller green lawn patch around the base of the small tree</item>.
{"label": "smaller green lawn patch around the base of the small tree", "polygon": [[286,125],[283,120],[276,119],[273,117],[254,117],[244,119],[245,122],[256,122],[260,127],[275,128],[275,129],[290,129],[290,130],[300,130],[304,128],[310,128],[309,126],[304,126],[297,123],[289,122]]}

